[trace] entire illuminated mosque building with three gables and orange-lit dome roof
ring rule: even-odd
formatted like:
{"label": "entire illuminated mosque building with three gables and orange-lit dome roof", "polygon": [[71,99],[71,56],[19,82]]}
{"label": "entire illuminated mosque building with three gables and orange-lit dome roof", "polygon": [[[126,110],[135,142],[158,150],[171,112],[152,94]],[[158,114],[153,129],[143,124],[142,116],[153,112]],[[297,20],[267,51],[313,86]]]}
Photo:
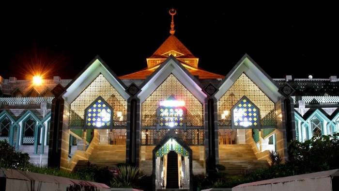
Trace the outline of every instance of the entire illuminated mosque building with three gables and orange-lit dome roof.
{"label": "entire illuminated mosque building with three gables and orange-lit dome roof", "polygon": [[339,128],[339,79],[272,79],[248,55],[226,76],[199,68],[174,35],[147,67],[117,76],[95,57],[73,79],[0,77],[0,140],[36,165],[139,165],[154,188],[192,188],[217,164],[238,175],[286,160],[291,140]]}

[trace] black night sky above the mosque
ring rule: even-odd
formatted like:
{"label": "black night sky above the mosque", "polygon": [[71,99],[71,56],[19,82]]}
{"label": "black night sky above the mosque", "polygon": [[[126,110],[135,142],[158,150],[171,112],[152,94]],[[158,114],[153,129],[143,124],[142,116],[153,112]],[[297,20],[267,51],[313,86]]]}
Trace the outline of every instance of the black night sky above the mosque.
{"label": "black night sky above the mosque", "polygon": [[203,69],[226,75],[247,53],[272,78],[339,76],[334,5],[155,5],[3,4],[0,76],[25,79],[43,68],[46,78],[71,79],[95,55],[119,76],[138,71],[169,36],[171,7],[175,35]]}

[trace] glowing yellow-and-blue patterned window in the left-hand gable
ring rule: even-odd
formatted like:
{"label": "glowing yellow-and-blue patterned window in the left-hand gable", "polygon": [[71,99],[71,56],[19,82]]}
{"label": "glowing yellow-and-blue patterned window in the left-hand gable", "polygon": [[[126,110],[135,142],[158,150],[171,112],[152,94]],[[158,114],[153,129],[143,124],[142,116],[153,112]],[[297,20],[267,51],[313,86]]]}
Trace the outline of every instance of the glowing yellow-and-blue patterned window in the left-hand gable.
{"label": "glowing yellow-and-blue patterned window in the left-hand gable", "polygon": [[85,115],[87,128],[112,127],[113,109],[101,96],[86,108]]}

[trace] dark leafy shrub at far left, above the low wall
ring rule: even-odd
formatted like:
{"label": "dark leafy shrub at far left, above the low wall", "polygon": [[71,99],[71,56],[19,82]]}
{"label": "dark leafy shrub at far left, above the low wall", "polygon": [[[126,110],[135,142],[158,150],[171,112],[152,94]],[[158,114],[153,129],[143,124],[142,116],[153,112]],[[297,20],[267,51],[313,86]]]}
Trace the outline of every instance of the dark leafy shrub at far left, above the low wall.
{"label": "dark leafy shrub at far left, above the low wall", "polygon": [[0,153],[0,167],[26,170],[30,166],[30,156],[15,151],[15,148],[7,142],[0,141]]}

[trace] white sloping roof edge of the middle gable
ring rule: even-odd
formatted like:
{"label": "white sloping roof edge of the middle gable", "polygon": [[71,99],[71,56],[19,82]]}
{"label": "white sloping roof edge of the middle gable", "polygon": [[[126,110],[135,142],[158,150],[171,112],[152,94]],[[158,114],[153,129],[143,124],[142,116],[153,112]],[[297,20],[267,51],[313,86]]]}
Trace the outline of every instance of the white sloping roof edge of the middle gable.
{"label": "white sloping roof edge of the middle gable", "polygon": [[170,74],[173,74],[187,90],[192,93],[201,104],[207,97],[202,89],[194,80],[192,80],[185,71],[173,60],[169,60],[142,88],[138,95],[140,103],[144,102],[154,90],[166,80]]}

